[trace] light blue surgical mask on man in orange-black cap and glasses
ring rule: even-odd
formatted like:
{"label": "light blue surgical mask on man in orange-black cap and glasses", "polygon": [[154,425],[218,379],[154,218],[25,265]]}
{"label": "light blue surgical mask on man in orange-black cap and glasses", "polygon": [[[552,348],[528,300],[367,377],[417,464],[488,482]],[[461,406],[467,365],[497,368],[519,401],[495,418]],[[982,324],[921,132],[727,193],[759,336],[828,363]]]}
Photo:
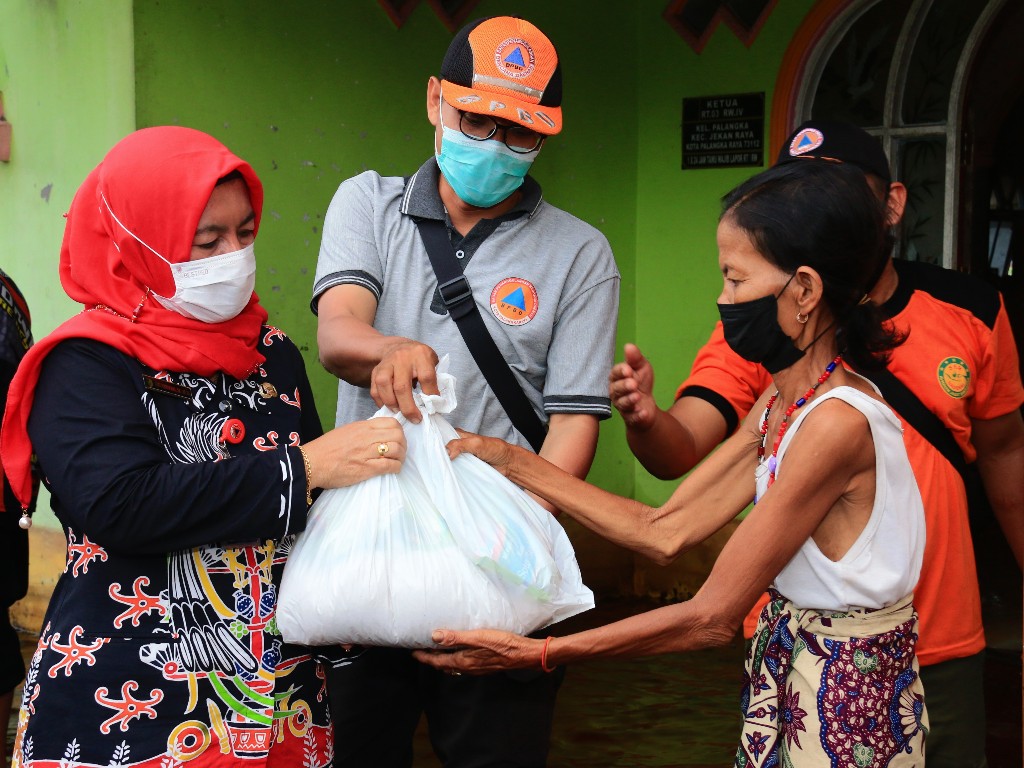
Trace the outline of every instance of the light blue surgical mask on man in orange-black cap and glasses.
{"label": "light blue surgical mask on man in orange-black cap and glasses", "polygon": [[541,152],[520,155],[493,138],[476,141],[446,125],[441,129],[437,166],[459,199],[477,208],[496,206],[518,189]]}

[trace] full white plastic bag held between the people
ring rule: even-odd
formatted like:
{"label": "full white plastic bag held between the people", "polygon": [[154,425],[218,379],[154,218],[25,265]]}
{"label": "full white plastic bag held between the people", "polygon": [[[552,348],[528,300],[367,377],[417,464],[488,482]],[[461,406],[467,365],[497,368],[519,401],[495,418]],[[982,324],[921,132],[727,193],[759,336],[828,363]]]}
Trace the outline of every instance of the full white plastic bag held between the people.
{"label": "full white plastic bag held between the people", "polygon": [[423,420],[395,417],[401,471],[327,490],[310,510],[278,604],[288,642],[430,647],[439,628],[527,634],[594,607],[551,513],[475,456],[447,458],[446,364],[441,394],[416,394]]}

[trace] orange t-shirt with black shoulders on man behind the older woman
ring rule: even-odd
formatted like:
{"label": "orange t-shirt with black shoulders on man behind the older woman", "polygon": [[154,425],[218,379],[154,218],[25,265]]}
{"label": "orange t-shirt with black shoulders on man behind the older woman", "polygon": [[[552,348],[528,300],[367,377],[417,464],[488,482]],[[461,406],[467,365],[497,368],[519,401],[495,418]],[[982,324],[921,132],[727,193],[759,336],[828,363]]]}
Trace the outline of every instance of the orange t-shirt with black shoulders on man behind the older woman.
{"label": "orange t-shirt with black shoulders on man behind the older woman", "polygon": [[[968,463],[976,458],[971,420],[994,419],[1024,402],[1017,347],[1002,298],[977,279],[921,262],[896,261],[899,285],[884,309],[907,334],[889,370],[949,429]],[[697,354],[680,397],[716,397],[734,428],[771,386],[760,366],[725,342],[718,324]],[[726,408],[725,410],[728,410]],[[985,647],[981,597],[959,473],[926,438],[903,422],[903,441],[925,503],[927,543],[914,590],[920,617],[918,657],[923,665],[973,655]],[[744,622],[750,636],[764,598]]]}

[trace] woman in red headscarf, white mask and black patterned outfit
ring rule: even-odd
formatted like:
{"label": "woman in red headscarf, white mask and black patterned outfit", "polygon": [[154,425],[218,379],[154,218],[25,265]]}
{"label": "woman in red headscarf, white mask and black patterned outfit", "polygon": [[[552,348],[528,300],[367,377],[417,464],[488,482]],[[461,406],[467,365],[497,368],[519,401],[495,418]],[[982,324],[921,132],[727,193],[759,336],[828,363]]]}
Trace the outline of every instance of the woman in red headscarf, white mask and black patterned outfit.
{"label": "woman in red headscarf, white mask and black patterned outfit", "polygon": [[404,442],[393,419],[322,435],[253,293],[262,203],[247,163],[180,127],[129,135],[75,196],[60,281],[84,309],[25,357],[2,432],[23,509],[35,453],[68,539],[14,765],[332,763],[281,573],[312,492],[396,472]]}

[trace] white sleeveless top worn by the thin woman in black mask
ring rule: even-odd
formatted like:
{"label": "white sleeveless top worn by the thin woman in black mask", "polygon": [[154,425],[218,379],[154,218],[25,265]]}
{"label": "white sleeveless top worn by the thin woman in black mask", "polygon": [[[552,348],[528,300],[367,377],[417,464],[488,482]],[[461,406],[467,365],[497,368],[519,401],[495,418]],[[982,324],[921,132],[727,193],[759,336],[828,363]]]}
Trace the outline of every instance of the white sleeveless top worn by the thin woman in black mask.
{"label": "white sleeveless top worn by the thin woman in black mask", "polygon": [[[913,591],[925,553],[925,509],[893,412],[853,387],[828,390],[805,406],[790,426],[778,449],[775,476],[785,467],[782,459],[803,420],[833,398],[857,409],[870,426],[876,477],[871,516],[840,560],[825,557],[809,538],[776,577],[775,588],[802,608],[883,608]],[[761,498],[768,488],[767,462],[758,466],[756,479]]]}

